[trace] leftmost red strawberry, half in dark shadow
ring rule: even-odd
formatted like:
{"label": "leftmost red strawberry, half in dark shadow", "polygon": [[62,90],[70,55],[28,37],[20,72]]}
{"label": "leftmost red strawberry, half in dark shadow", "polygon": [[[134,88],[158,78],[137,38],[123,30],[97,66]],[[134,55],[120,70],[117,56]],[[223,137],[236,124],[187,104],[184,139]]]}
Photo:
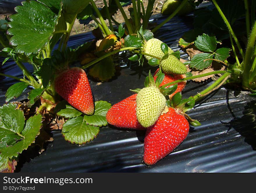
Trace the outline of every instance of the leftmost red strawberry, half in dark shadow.
{"label": "leftmost red strawberry, half in dark shadow", "polygon": [[71,106],[87,115],[93,115],[93,95],[83,69],[73,67],[63,71],[55,78],[54,87]]}

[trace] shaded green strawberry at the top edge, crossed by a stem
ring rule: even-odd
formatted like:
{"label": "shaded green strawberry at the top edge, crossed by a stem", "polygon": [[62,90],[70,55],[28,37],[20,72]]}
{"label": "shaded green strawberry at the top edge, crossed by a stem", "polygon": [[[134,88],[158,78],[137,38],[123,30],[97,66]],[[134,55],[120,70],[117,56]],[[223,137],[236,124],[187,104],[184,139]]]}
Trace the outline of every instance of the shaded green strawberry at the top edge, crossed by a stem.
{"label": "shaded green strawberry at the top edge, crossed by a stem", "polygon": [[[163,15],[171,15],[182,3],[181,0],[167,0],[165,3],[163,3],[161,14]],[[186,15],[194,10],[194,7],[187,2],[186,5],[179,10],[177,15]]]}

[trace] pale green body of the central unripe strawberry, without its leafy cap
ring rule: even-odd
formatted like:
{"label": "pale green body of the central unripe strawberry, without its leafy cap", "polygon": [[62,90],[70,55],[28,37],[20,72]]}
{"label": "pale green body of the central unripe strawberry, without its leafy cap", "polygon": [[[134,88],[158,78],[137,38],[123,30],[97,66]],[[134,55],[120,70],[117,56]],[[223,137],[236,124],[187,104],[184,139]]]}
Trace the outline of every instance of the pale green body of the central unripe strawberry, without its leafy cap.
{"label": "pale green body of the central unripe strawberry, without its leafy cap", "polygon": [[157,87],[141,89],[136,97],[136,116],[143,127],[153,125],[166,106],[166,98]]}

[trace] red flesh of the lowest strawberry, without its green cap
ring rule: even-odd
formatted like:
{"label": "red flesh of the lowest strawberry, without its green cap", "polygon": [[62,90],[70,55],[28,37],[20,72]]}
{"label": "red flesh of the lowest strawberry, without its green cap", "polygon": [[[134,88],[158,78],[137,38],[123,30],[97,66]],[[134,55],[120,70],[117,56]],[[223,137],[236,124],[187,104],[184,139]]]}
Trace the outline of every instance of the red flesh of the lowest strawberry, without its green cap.
{"label": "red flesh of the lowest strawberry, without its green cap", "polygon": [[147,128],[144,140],[143,160],[147,165],[154,165],[171,153],[189,132],[189,122],[173,108],[160,115],[157,122]]}

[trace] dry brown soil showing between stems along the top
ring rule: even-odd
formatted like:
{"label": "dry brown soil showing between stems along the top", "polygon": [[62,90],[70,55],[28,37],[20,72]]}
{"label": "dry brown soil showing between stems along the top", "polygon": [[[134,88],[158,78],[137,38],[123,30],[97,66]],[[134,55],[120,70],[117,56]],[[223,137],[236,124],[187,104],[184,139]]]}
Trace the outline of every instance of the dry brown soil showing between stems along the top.
{"label": "dry brown soil showing between stems along the top", "polygon": [[[155,1],[152,15],[158,14],[158,13],[161,12],[162,5],[165,1],[166,0],[156,0]],[[97,5],[97,7],[99,7],[99,8],[104,7],[104,2],[102,0],[95,0],[95,3]],[[108,3],[108,0],[107,0],[107,3]],[[143,0],[144,8],[147,7],[147,3],[148,3],[148,0]],[[125,13],[127,14],[128,18],[129,18],[128,8],[130,8],[130,7],[132,7],[132,6],[129,5],[129,6],[124,7]],[[5,14],[1,14],[1,12],[0,12],[0,19],[5,19],[6,15],[8,16],[8,15],[13,14],[13,13],[15,13],[15,12],[13,11],[11,13],[5,13]],[[119,23],[124,22],[122,14],[119,10],[113,16],[113,18]],[[107,23],[107,25],[109,24],[108,21],[105,21],[105,22]],[[79,34],[79,33],[86,33],[88,31],[92,31],[95,28],[97,28],[97,24],[94,21],[91,21],[87,25],[83,25],[83,24],[80,24],[79,21],[76,19],[70,35],[76,35],[76,34]]]}

